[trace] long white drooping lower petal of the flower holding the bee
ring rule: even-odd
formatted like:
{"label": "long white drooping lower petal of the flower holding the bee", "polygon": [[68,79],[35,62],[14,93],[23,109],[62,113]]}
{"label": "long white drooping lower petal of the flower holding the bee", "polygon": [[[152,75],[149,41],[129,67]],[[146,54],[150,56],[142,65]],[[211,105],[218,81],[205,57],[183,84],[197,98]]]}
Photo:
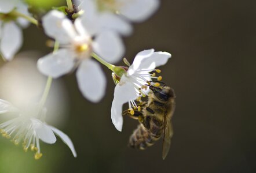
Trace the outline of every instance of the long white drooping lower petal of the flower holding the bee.
{"label": "long white drooping lower petal of the flower holding the bee", "polygon": [[129,78],[122,76],[120,82],[115,87],[114,100],[111,107],[111,119],[116,129],[122,131],[123,117],[122,106],[129,100],[136,99],[137,93],[134,85],[129,82]]}

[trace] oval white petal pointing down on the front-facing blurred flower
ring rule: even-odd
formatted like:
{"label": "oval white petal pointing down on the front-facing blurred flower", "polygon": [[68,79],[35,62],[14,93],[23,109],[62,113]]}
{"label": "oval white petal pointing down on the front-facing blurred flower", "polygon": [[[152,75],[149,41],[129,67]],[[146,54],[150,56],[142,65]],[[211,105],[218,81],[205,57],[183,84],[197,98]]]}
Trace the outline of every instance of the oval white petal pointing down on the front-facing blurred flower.
{"label": "oval white petal pointing down on the front-facing blurred flower", "polygon": [[84,60],[76,72],[78,86],[83,96],[92,102],[98,102],[105,94],[107,81],[100,65],[91,60]]}

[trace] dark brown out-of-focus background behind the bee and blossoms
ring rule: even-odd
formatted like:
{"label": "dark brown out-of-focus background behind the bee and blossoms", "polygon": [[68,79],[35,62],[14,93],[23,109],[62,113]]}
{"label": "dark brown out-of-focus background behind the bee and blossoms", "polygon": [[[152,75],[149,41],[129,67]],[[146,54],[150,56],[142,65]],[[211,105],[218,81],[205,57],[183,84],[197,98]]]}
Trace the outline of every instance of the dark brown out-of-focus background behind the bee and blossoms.
{"label": "dark brown out-of-focus background behind the bee and blossoms", "polygon": [[[70,102],[70,116],[61,130],[71,137],[78,157],[60,140],[55,145],[41,143],[41,160],[30,155],[20,164],[20,157],[11,157],[8,163],[14,171],[9,172],[256,172],[255,20],[253,0],[162,1],[153,17],[134,24],[133,35],[124,38],[130,62],[148,48],[173,55],[160,67],[163,81],[177,95],[166,160],[161,141],[146,151],[127,147],[137,121],[125,117],[122,133],[112,125],[115,85],[103,66],[108,88],[98,104],[82,97],[75,73],[60,79]],[[24,37],[23,51],[50,52],[46,37],[34,26]],[[6,150],[27,155],[16,146],[1,146],[0,157]],[[6,166],[0,164],[0,170]]]}

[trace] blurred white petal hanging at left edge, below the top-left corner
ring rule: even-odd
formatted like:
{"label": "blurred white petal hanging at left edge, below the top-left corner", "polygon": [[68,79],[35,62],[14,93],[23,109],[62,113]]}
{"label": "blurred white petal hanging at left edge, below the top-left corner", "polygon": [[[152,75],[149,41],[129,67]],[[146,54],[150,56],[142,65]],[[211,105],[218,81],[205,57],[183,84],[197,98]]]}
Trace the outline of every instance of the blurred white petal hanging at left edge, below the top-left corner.
{"label": "blurred white petal hanging at left edge, below the top-left corner", "polygon": [[23,43],[21,29],[14,22],[3,24],[2,39],[0,50],[8,61],[12,60],[14,55],[20,49]]}

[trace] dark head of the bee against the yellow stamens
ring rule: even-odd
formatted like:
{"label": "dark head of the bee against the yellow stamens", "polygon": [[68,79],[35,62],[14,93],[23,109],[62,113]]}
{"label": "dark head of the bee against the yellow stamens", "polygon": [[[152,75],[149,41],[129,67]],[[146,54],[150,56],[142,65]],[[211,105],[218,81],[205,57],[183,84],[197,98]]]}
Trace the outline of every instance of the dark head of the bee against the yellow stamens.
{"label": "dark head of the bee against the yellow stamens", "polygon": [[164,86],[163,88],[159,88],[156,86],[149,85],[149,89],[151,89],[155,97],[160,101],[168,101],[171,98],[175,98],[174,90],[169,86]]}

